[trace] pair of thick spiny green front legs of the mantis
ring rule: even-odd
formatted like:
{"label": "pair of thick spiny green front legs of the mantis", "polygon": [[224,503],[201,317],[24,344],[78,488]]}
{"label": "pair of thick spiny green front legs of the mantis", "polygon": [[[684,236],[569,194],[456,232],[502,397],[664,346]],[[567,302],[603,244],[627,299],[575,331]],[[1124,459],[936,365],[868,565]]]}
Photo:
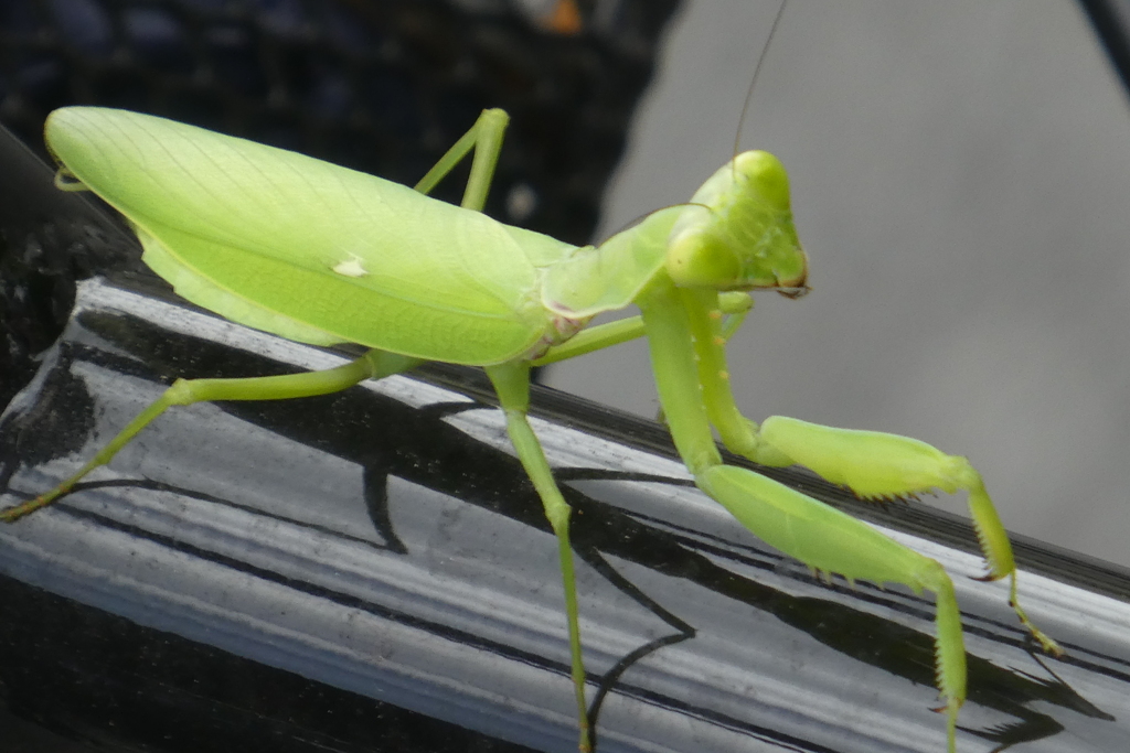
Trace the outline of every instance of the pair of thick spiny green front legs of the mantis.
{"label": "pair of thick spiny green front legs of the mantis", "polygon": [[1022,622],[1046,650],[1058,653],[1059,647],[1015,604],[1011,549],[981,476],[964,458],[893,435],[850,432],[783,418],[766,421],[758,432],[741,417],[730,395],[716,294],[678,290],[659,281],[641,297],[640,306],[671,436],[699,489],[759,539],[815,570],[879,584],[901,583],[919,593],[935,592],[938,689],[953,753],[957,711],[965,700],[965,649],[954,586],[941,564],[806,494],[753,471],[723,465],[711,424],[731,449],[756,462],[801,463],[867,496],[914,493],[935,487],[970,490],[991,576],[1014,576],[1014,607]]}

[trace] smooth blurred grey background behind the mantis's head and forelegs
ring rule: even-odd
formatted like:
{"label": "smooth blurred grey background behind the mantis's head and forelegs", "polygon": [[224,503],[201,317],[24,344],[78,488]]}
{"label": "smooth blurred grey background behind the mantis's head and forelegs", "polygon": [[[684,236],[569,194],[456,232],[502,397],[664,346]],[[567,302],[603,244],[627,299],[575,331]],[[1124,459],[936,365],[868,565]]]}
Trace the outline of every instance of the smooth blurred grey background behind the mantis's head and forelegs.
{"label": "smooth blurred grey background behind the mantis's head and forelegs", "polygon": [[[599,237],[732,155],[775,11],[686,3]],[[1081,10],[790,0],[740,141],[789,169],[812,286],[734,340],[747,415],[966,455],[1010,529],[1130,564],[1130,117]],[[657,410],[642,343],[548,380]]]}

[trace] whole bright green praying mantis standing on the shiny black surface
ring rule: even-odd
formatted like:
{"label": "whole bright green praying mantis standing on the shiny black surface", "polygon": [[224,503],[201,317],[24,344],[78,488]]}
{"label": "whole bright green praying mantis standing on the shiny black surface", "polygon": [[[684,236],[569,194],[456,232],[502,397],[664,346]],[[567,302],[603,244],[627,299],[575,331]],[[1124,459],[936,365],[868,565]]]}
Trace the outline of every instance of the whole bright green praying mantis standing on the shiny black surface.
{"label": "whole bright green praying mantis standing on the shiny black surface", "polygon": [[[600,246],[574,247],[484,213],[507,116],[483,113],[414,189],[194,126],[97,107],[47,120],[61,165],[56,185],[89,190],[120,211],[144,261],[188,300],[315,345],[370,350],[333,369],[242,379],[177,380],[77,473],[0,511],[12,523],[111,462],[173,405],[282,400],[346,389],[424,361],[481,367],[518,456],[557,536],[576,697],[579,750],[592,750],[579,625],[571,510],[528,420],[530,370],[647,339],[666,421],[698,488],[746,528],[814,571],[849,581],[904,584],[937,597],[937,685],[956,750],[965,699],[965,649],[945,569],[871,526],[746,467],[803,465],[863,499],[965,490],[986,561],[1010,578],[1009,603],[1052,654],[1017,602],[1008,536],[981,475],[964,458],[906,437],[771,417],[759,426],[730,389],[727,341],[753,290],[807,292],[808,259],[793,227],[789,178],[764,151],[739,154],[686,204],[660,209]],[[426,194],[472,155],[461,207]],[[641,315],[589,326],[635,305]]]}

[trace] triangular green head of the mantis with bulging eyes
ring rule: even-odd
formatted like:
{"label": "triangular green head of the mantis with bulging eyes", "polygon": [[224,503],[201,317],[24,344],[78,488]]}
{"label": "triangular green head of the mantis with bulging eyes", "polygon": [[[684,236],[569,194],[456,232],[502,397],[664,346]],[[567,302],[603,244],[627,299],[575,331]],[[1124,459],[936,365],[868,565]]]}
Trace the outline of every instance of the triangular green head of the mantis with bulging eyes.
{"label": "triangular green head of the mantis with bulging eyes", "polygon": [[680,288],[808,292],[789,174],[767,151],[745,151],[695,192],[671,229],[667,273]]}

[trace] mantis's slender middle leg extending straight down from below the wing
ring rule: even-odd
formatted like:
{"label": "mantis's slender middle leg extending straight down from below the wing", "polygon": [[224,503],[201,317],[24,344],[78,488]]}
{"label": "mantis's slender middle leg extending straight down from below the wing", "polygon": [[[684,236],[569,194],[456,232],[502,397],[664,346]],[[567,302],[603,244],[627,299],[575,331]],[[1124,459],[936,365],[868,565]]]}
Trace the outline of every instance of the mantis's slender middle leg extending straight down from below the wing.
{"label": "mantis's slender middle leg extending straight down from below the wing", "polygon": [[487,375],[494,383],[506,414],[506,429],[518,452],[522,467],[533,482],[546,510],[549,525],[557,535],[557,552],[560,560],[562,583],[565,587],[565,614],[568,621],[568,643],[572,659],[573,689],[576,694],[577,724],[580,725],[580,753],[592,751],[590,741],[589,709],[584,699],[584,660],[581,654],[581,623],[576,603],[576,578],[573,571],[573,548],[570,544],[568,527],[572,508],[554,480],[549,462],[541,443],[533,434],[527,419],[530,408],[530,365],[503,364],[487,367]]}

